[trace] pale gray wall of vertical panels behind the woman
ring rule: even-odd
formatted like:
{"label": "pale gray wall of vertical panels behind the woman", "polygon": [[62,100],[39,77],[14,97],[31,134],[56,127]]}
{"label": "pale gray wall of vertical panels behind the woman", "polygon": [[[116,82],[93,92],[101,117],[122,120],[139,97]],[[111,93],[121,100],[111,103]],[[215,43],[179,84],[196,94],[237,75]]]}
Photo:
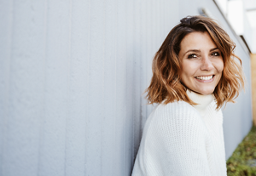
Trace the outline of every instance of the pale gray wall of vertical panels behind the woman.
{"label": "pale gray wall of vertical panels behind the woman", "polygon": [[154,53],[201,7],[236,42],[247,76],[224,110],[229,157],[252,125],[250,60],[211,0],[0,0],[0,175],[130,175]]}

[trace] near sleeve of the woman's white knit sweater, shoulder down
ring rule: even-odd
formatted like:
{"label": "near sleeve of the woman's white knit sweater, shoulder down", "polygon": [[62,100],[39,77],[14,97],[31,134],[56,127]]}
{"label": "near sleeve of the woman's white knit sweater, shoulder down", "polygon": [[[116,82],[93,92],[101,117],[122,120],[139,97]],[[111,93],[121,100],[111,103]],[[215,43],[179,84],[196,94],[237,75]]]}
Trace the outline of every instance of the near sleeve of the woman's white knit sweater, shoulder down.
{"label": "near sleeve of the woman's white knit sweater, shoulder down", "polygon": [[207,130],[191,105],[185,102],[161,105],[148,123],[144,138],[140,158],[143,174],[138,175],[211,175]]}

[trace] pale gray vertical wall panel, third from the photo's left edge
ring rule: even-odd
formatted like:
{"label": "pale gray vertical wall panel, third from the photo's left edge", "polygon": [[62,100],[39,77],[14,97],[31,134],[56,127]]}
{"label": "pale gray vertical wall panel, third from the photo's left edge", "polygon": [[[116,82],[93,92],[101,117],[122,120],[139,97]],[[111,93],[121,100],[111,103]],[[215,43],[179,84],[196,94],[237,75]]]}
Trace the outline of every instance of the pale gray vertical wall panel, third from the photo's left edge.
{"label": "pale gray vertical wall panel, third from the photo's left edge", "polygon": [[45,114],[38,175],[64,175],[69,114],[70,1],[48,2]]}

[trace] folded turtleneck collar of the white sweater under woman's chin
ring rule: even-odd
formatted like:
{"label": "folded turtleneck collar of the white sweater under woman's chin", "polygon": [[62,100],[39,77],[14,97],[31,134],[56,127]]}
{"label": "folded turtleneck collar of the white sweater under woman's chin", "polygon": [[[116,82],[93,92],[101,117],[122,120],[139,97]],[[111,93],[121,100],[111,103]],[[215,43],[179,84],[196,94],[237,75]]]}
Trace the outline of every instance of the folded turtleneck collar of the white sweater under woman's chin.
{"label": "folded turtleneck collar of the white sweater under woman's chin", "polygon": [[202,94],[197,94],[189,89],[187,89],[186,92],[189,96],[189,99],[194,101],[197,105],[193,105],[197,111],[200,112],[201,116],[205,116],[206,111],[207,111],[207,106],[212,103],[214,100],[214,95],[213,94],[207,94],[207,95],[202,95]]}

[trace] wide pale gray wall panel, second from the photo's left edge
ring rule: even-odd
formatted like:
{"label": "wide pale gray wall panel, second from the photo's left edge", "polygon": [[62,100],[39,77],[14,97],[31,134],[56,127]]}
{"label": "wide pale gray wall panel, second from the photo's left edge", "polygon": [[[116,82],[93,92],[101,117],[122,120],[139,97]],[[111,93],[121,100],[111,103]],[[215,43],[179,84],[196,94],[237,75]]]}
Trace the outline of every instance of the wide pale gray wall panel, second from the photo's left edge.
{"label": "wide pale gray wall panel, second from the photo's left edge", "polygon": [[12,52],[10,60],[3,58],[11,63],[5,65],[10,68],[1,162],[6,176],[38,172],[39,119],[44,99],[44,7],[44,3],[30,1],[13,3]]}

